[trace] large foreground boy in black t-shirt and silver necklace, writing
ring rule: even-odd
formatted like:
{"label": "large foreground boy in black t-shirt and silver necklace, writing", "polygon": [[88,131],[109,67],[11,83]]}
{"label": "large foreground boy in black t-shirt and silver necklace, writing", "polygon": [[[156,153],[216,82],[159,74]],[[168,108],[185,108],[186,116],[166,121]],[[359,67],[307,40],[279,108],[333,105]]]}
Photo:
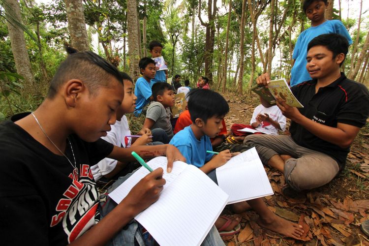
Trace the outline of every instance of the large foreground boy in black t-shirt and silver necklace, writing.
{"label": "large foreground boy in black t-shirt and silver necklace, writing", "polygon": [[1,243],[105,245],[121,236],[120,245],[144,245],[132,219],[158,199],[163,170],[148,174],[100,219],[90,167],[105,157],[134,160],[131,151],[166,154],[169,172],[175,159],[185,159],[171,145],[127,150],[100,139],[116,121],[123,78],[90,51],[68,51],[41,105],[0,124]]}

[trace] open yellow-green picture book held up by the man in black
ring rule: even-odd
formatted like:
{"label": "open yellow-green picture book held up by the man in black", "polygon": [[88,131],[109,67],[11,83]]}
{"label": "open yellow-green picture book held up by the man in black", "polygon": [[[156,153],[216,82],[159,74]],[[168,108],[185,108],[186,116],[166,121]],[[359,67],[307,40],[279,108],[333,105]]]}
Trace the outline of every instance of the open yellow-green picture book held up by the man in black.
{"label": "open yellow-green picture book held up by the man in black", "polygon": [[[296,99],[296,97],[291,92],[285,79],[271,80],[268,87],[258,87],[251,88],[251,91],[263,97],[265,100],[270,102],[272,105],[276,104],[276,96],[282,98],[287,105],[291,107],[303,108],[304,106]],[[264,89],[264,90],[263,90]],[[267,89],[267,90],[265,90]],[[273,99],[271,99],[271,96]]]}

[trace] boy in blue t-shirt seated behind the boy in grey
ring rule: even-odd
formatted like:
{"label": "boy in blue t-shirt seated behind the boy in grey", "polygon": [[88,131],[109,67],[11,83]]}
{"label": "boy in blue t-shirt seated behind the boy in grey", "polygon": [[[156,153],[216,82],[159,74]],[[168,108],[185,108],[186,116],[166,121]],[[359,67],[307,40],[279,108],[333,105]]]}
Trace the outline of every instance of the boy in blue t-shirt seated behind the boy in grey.
{"label": "boy in blue t-shirt seated behind the boy in grey", "polygon": [[134,94],[137,96],[136,108],[134,109],[135,116],[141,114],[143,108],[153,100],[154,97],[151,88],[154,83],[151,82],[151,79],[153,79],[156,74],[155,62],[153,59],[148,57],[141,58],[138,62],[138,66],[140,67],[142,77],[137,79],[134,89]]}

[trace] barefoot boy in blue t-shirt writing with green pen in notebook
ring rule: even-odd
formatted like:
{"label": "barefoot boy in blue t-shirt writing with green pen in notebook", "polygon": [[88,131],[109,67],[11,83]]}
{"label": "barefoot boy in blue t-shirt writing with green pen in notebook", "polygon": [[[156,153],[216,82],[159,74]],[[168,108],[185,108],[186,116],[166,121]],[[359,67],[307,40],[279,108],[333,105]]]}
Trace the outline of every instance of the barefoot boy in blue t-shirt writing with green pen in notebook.
{"label": "barefoot boy in blue t-shirt writing with green pen in notebook", "polygon": [[[210,138],[215,137],[222,129],[222,120],[228,113],[229,106],[219,93],[196,89],[189,92],[188,111],[192,124],[178,132],[170,144],[180,150],[187,163],[197,166],[217,183],[215,169],[224,165],[236,153],[232,154],[229,150],[225,150],[219,154],[211,154],[207,151],[213,150]],[[258,220],[260,226],[289,237],[302,235],[300,225],[273,214],[261,198],[249,200],[247,203],[235,203],[232,204],[232,208],[235,213],[242,213],[250,206],[260,215]],[[222,228],[222,223],[224,219],[218,218],[215,226],[218,229]]]}

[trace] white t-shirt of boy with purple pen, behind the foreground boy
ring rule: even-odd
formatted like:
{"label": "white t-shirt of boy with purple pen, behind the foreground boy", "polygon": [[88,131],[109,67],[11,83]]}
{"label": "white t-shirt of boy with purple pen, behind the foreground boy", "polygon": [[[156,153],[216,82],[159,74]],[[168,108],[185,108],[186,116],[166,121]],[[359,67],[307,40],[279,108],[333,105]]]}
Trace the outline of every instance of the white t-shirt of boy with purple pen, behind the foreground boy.
{"label": "white t-shirt of boy with purple pen, behind the foreground boy", "polygon": [[[121,121],[116,121],[116,123],[111,127],[111,131],[109,131],[108,135],[105,137],[101,137],[102,139],[118,147],[126,148],[131,146],[132,139],[130,137],[125,137],[131,135],[127,117],[125,117],[125,115],[123,115]],[[93,165],[91,167],[91,171],[95,181],[98,181],[103,175],[113,171],[117,166],[117,162],[118,161],[114,159],[104,158],[96,165]]]}

